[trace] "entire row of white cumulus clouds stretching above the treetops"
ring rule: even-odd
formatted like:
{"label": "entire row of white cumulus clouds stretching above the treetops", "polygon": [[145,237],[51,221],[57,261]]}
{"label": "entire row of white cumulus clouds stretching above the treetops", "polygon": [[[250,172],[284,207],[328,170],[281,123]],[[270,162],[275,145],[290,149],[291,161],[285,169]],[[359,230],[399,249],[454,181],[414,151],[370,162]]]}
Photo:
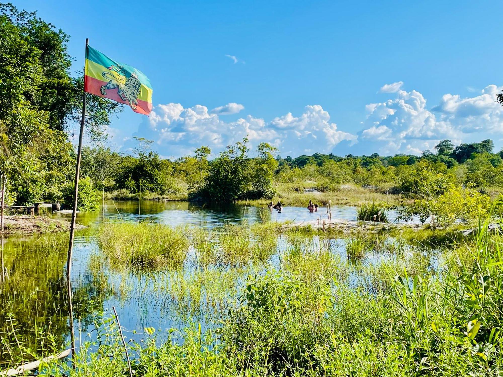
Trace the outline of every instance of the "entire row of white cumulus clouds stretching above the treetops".
{"label": "entire row of white cumulus clouds stretching above the treetops", "polygon": [[175,157],[190,154],[201,145],[210,146],[216,154],[246,135],[252,146],[269,142],[283,156],[313,151],[338,155],[421,154],[425,149],[433,150],[443,139],[455,144],[498,140],[503,132],[503,107],[495,100],[502,89],[488,85],[467,98],[448,93],[434,107],[428,106],[421,92],[399,89],[386,101],[369,103],[362,109],[358,133],[347,132],[352,125],[341,130],[320,105],[309,105],[300,114],[287,113],[270,121],[246,115],[226,122],[223,115],[236,114],[244,106],[229,103],[209,111],[202,105],[185,108],[181,104],[162,104],[145,118],[138,136],[154,140],[161,155]]}

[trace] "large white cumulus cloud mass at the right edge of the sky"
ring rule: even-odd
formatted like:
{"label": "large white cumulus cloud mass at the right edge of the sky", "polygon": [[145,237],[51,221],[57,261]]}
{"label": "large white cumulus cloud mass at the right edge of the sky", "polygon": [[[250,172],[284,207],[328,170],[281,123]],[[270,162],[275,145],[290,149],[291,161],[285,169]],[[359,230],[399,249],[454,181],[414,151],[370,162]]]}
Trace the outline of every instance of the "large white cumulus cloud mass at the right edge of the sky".
{"label": "large white cumulus cloud mass at the right edge of the sky", "polygon": [[479,96],[469,98],[446,94],[431,109],[420,92],[398,90],[395,99],[366,106],[360,148],[373,147],[381,154],[420,154],[443,139],[460,143],[480,138],[480,132],[499,133],[503,108],[495,100],[501,89],[489,85]]}

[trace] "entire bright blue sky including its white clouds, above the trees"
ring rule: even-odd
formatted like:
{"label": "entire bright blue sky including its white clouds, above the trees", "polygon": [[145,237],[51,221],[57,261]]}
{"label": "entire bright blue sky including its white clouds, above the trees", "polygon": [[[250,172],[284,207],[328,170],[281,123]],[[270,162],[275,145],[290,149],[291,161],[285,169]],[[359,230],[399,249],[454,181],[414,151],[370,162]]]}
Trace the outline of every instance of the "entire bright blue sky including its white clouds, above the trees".
{"label": "entire bright blue sky including its white clouds, above the trees", "polygon": [[[418,154],[442,139],[503,146],[502,2],[15,1],[143,71],[150,118],[109,130],[165,157],[249,135],[283,156]],[[235,57],[235,58],[233,58]]]}

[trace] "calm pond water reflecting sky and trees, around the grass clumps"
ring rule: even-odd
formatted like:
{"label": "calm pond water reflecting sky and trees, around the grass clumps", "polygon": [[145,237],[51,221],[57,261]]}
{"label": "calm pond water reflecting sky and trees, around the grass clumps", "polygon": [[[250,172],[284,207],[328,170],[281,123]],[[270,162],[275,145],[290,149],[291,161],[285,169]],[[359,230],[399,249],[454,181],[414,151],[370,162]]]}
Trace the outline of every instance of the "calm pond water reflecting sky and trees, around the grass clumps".
{"label": "calm pond water reflecting sky and trees, around the grass clumps", "polygon": [[[299,239],[306,236],[300,235],[297,238],[280,236],[275,244],[276,252],[259,265],[249,262],[201,269],[186,261],[182,269],[175,271],[124,270],[104,262],[96,238],[96,230],[104,221],[148,221],[212,229],[227,223],[261,223],[264,212],[248,205],[222,207],[153,201],[142,201],[141,205],[138,201],[110,201],[103,209],[103,212],[78,214],[77,217],[77,222],[88,226],[76,232],[71,276],[74,327],[77,333],[80,329],[81,337],[95,338],[95,319],[101,315],[110,317],[112,307],[116,307],[121,325],[128,331],[125,336],[135,341],[143,338],[145,328],[160,330],[159,339],[162,339],[162,334],[167,334],[166,330],[171,328],[184,329],[194,323],[200,323],[203,329],[217,327],[222,313],[239,304],[237,293],[244,286],[246,276],[282,268],[281,256],[299,242],[306,250],[323,247],[341,260],[346,259],[344,240],[321,240],[311,236],[304,242]],[[332,207],[331,212],[332,218],[356,219],[355,207]],[[268,221],[303,222],[326,218],[326,209],[309,213],[306,208],[286,207],[281,212],[273,210],[266,214]],[[390,220],[396,215],[390,213]],[[4,338],[14,342],[14,335],[24,336],[28,346],[30,342],[39,343],[41,338],[50,336],[61,345],[68,340],[68,297],[64,278],[67,239],[67,234],[53,234],[3,240],[2,263],[6,275],[0,284],[0,323],[3,323],[0,331]],[[368,261],[377,263],[388,257],[375,255]],[[38,334],[35,334],[36,327]],[[9,353],[0,355],[0,365],[6,364],[9,357]]]}

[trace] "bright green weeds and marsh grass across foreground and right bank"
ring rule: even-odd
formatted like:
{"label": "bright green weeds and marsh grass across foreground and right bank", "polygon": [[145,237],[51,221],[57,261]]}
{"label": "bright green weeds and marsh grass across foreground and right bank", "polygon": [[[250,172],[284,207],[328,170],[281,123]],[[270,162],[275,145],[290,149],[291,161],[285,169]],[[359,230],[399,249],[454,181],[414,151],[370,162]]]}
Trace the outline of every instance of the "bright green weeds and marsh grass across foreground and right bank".
{"label": "bright green weeds and marsh grass across foreground and right bank", "polygon": [[[133,372],[498,375],[503,235],[487,226],[439,251],[381,236],[341,244],[292,231],[280,236],[286,243],[279,264],[172,271],[156,279],[156,295],[171,297],[189,322],[168,333],[145,328],[142,342],[128,342]],[[253,245],[248,237],[241,246]],[[199,250],[210,250],[201,247],[202,233],[193,232],[194,239]],[[369,262],[345,262],[337,250]],[[40,375],[128,373],[115,321],[98,315],[94,326],[100,335],[77,335],[82,343],[71,363],[44,366]]]}

